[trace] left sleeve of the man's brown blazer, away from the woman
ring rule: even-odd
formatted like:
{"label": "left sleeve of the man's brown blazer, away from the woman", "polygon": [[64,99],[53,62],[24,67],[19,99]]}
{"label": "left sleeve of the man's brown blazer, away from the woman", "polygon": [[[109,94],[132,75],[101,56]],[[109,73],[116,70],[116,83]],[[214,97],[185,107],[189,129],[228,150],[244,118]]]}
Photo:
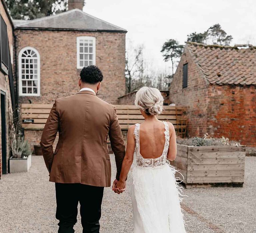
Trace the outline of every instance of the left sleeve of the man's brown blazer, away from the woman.
{"label": "left sleeve of the man's brown blazer, away from the woman", "polygon": [[58,129],[59,129],[59,114],[57,111],[57,100],[55,100],[55,103],[53,104],[50,115],[44,126],[44,130],[43,130],[41,141],[40,141],[45,165],[49,173],[51,171],[51,166],[52,166],[52,161],[54,156],[52,145],[56,138]]}

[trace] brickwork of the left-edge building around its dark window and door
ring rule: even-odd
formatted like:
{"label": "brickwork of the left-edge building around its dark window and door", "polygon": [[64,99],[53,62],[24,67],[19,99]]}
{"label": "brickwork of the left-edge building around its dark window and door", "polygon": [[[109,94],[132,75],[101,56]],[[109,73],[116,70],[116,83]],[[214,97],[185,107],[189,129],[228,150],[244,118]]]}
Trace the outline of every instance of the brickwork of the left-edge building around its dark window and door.
{"label": "brickwork of the left-edge building around its dark window and door", "polygon": [[[12,35],[12,26],[11,26],[11,23],[8,19],[8,16],[5,12],[5,9],[4,9],[4,6],[2,4],[2,2],[0,2],[0,15],[3,17],[3,20],[5,21],[6,25],[7,25],[7,34],[8,34],[8,40],[9,40],[9,49],[10,51],[12,50],[12,47],[13,47],[13,35]],[[3,74],[1,71],[0,71],[0,90],[5,92],[5,98],[6,98],[6,122],[7,122],[7,125],[6,125],[6,137],[7,137],[7,143],[6,143],[6,146],[7,146],[7,160],[8,160],[8,157],[9,157],[9,150],[8,150],[8,116],[9,116],[9,113],[8,113],[8,107],[9,105],[11,105],[11,100],[10,100],[10,88],[9,88],[9,80],[8,80],[8,76],[6,76],[5,74]],[[2,175],[2,141],[1,141],[1,138],[2,138],[2,129],[1,129],[1,115],[0,115],[0,179],[1,179],[1,175]],[[7,163],[8,164],[8,163]]]}

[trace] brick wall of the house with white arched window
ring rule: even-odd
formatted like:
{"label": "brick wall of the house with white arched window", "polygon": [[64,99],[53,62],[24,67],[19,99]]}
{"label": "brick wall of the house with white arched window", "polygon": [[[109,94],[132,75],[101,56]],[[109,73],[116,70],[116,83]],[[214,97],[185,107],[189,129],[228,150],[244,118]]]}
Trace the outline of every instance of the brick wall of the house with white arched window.
{"label": "brick wall of the house with white arched window", "polygon": [[19,97],[20,103],[53,103],[56,98],[79,91],[76,37],[96,37],[96,65],[104,80],[99,97],[116,104],[125,94],[125,33],[15,30],[17,53],[31,46],[38,50],[41,62],[41,96]]}

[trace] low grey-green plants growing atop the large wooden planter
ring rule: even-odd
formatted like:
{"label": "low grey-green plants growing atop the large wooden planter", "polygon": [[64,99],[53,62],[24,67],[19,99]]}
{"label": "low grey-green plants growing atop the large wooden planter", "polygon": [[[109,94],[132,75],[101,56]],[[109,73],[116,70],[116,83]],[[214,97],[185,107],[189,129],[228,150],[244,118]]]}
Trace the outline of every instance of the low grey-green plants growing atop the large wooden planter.
{"label": "low grey-green plants growing atop the large wooden planter", "polygon": [[190,146],[210,146],[210,145],[240,145],[237,141],[229,140],[229,138],[222,136],[221,138],[208,137],[205,134],[204,137],[191,137],[191,138],[177,138],[177,143]]}

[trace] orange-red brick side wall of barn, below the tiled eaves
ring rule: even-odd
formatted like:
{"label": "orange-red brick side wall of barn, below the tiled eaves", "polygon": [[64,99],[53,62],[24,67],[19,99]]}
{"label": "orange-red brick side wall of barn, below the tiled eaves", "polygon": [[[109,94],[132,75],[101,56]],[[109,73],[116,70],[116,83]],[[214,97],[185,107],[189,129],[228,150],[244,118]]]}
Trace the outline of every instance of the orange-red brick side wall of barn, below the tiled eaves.
{"label": "orange-red brick side wall of barn, below the tiled eaves", "polygon": [[207,131],[256,147],[256,86],[210,85]]}

